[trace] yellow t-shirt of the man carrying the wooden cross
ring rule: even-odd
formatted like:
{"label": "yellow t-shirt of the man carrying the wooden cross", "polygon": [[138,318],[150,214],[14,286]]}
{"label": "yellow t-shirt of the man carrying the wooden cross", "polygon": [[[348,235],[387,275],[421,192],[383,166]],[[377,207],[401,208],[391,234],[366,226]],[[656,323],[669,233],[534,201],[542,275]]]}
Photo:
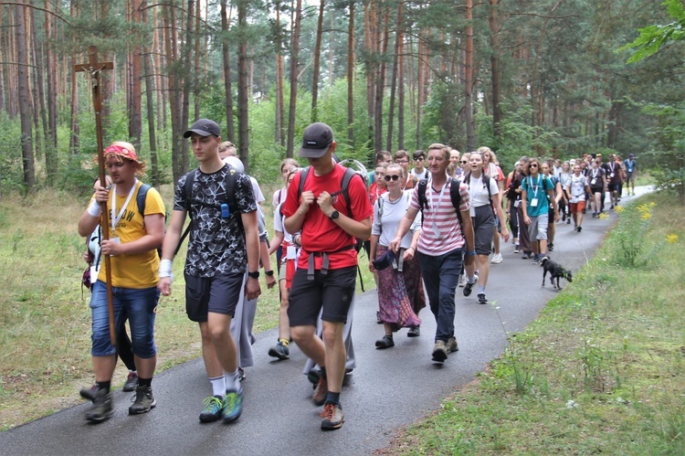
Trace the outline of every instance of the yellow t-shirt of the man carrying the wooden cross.
{"label": "yellow t-shirt of the man carrying the wooden cross", "polygon": [[[138,203],[136,202],[136,197],[138,196],[138,191],[141,186],[142,183],[139,182],[113,233],[111,232],[110,225],[110,239],[119,238],[121,244],[125,244],[126,242],[132,242],[145,236],[144,217],[138,212]],[[121,207],[126,202],[127,197],[128,195],[116,196],[117,216],[119,215]],[[111,210],[111,207],[109,206],[110,205],[108,205],[108,210]],[[163,215],[164,213],[162,196],[160,196],[159,192],[154,187],[150,187],[147,196],[145,196],[145,215]],[[156,249],[136,255],[115,255],[110,257],[110,261],[111,285],[113,287],[142,289],[157,286],[157,282],[159,281],[159,256],[157,255]],[[100,262],[100,273],[98,274],[98,279],[100,281],[106,281],[107,271],[105,268],[105,260],[102,258]]]}

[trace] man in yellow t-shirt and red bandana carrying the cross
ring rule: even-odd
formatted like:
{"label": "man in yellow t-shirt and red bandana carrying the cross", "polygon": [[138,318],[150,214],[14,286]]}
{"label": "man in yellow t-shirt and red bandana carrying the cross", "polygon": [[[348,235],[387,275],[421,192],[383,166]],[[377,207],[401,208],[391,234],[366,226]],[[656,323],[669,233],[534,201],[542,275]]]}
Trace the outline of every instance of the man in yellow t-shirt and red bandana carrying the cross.
{"label": "man in yellow t-shirt and red bandana carrying the cross", "polygon": [[[153,188],[148,188],[144,210],[139,210],[137,196],[142,183],[136,175],[144,173],[131,143],[115,142],[105,150],[105,164],[113,185],[100,186],[90,199],[90,206],[79,218],[79,235],[87,236],[100,223],[100,203],[110,210],[110,239],[102,240],[100,251],[111,256],[111,287],[114,319],[117,327],[129,319],[138,386],[129,414],[150,411],[153,398],[153,374],[157,363],[154,345],[154,312],[159,300],[159,257],[156,249],[164,237],[164,204]],[[116,347],[111,345],[107,303],[107,272],[102,262],[98,281],[90,297],[92,309],[92,355],[97,389],[86,419],[100,422],[113,413],[111,377],[117,363]]]}

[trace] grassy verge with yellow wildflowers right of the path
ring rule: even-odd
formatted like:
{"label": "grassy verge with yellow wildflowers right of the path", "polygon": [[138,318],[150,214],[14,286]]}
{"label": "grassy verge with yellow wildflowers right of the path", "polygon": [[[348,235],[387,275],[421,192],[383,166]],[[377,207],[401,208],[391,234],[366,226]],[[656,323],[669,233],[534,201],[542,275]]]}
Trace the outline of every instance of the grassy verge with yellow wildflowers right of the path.
{"label": "grassy verge with yellow wildflowers right of the path", "polygon": [[685,211],[669,196],[639,202],[654,203],[648,230],[633,233],[643,266],[619,264],[614,230],[525,332],[508,334],[504,355],[388,450],[684,454]]}

